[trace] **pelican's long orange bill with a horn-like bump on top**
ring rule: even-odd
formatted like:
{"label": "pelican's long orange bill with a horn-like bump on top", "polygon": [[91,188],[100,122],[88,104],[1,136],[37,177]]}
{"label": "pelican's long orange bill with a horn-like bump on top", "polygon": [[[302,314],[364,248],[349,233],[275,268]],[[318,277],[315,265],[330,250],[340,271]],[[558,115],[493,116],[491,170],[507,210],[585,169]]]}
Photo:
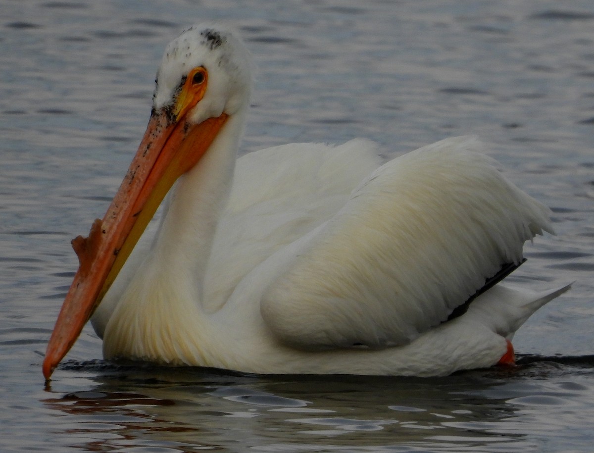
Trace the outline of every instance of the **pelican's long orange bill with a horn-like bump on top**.
{"label": "pelican's long orange bill with a horn-like bump on top", "polygon": [[[197,68],[197,70],[204,68]],[[189,77],[188,77],[189,78]],[[191,80],[191,78],[189,78]],[[190,124],[187,113],[206,90],[188,81],[172,108],[153,112],[143,140],[103,220],[89,237],[72,240],[80,262],[48,343],[43,375],[50,378],[115,280],[177,178],[204,155],[228,115]]]}

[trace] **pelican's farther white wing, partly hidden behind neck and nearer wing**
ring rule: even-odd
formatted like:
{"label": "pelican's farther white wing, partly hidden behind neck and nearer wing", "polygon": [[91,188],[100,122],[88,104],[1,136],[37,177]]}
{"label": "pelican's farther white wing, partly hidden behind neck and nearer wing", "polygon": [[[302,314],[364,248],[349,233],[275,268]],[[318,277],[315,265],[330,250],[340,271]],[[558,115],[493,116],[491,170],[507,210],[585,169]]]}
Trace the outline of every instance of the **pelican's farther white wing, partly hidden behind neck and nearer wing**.
{"label": "pelican's farther white wing, partly hidden behind neck and nearer wing", "polygon": [[291,143],[241,156],[208,260],[207,308],[222,307],[249,272],[335,215],[380,164],[377,145],[363,139]]}

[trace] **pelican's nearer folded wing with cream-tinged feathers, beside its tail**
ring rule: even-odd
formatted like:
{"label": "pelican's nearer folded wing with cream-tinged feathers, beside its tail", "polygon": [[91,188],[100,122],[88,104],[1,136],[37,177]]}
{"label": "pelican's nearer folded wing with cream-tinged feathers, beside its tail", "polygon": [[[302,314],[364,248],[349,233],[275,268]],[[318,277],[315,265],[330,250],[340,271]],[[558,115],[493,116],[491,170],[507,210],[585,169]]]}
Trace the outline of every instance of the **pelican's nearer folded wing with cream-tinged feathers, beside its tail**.
{"label": "pelican's nearer folded wing with cream-tinged feathers, beside its tail", "polygon": [[501,175],[472,137],[377,169],[268,287],[261,313],[299,348],[407,344],[479,290],[549,209]]}

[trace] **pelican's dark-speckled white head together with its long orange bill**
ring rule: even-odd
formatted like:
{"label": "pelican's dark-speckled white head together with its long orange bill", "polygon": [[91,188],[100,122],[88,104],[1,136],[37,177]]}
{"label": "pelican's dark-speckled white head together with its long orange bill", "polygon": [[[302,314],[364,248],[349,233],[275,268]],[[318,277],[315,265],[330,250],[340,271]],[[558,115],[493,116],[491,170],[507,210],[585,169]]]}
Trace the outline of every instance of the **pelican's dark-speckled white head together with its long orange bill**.
{"label": "pelican's dark-speckled white head together with its long orange bill", "polygon": [[169,188],[208,152],[228,119],[247,109],[251,85],[249,52],[231,30],[194,26],[169,44],[157,71],[149,125],[124,181],[89,237],[72,241],[80,266],[48,344],[46,379],[109,290]]}

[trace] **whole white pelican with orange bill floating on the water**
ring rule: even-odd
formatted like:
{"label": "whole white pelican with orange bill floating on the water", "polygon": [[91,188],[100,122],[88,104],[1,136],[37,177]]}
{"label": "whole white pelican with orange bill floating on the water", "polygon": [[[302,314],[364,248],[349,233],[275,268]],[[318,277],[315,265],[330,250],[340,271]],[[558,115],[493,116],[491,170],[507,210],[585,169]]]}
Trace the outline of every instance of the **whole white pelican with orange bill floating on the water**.
{"label": "whole white pelican with orange bill floating on the water", "polygon": [[72,241],[80,268],[45,377],[93,312],[106,359],[418,376],[513,361],[513,332],[567,289],[497,284],[526,240],[552,231],[548,208],[468,137],[381,166],[365,140],[237,159],[251,86],[249,53],[225,27],[169,44],[124,182]]}

